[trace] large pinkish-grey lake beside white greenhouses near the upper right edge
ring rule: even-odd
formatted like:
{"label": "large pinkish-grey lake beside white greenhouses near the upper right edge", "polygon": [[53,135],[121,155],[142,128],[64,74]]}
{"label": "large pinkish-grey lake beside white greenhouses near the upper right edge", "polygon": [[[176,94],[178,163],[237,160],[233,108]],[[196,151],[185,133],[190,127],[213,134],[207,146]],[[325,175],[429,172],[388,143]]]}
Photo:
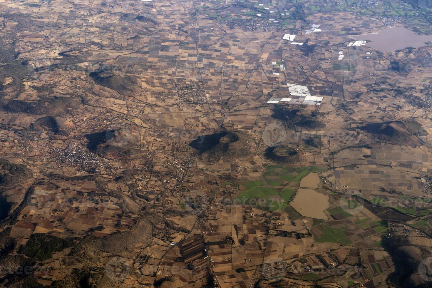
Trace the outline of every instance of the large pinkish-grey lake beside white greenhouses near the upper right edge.
{"label": "large pinkish-grey lake beside white greenhouses near the upper right edge", "polygon": [[406,47],[423,47],[426,42],[432,41],[432,35],[420,35],[407,28],[385,28],[378,33],[352,35],[355,40],[372,41],[367,45],[381,52],[397,51]]}

